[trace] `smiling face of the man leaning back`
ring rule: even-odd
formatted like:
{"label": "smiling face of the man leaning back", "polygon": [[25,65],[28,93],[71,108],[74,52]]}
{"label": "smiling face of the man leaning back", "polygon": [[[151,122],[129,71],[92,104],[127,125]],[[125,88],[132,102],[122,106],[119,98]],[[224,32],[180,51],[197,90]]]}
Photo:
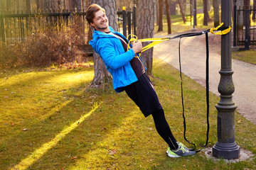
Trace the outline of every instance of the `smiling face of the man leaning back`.
{"label": "smiling face of the man leaning back", "polygon": [[95,12],[95,18],[92,19],[93,23],[91,25],[95,30],[105,31],[108,29],[108,19],[106,14],[99,10]]}

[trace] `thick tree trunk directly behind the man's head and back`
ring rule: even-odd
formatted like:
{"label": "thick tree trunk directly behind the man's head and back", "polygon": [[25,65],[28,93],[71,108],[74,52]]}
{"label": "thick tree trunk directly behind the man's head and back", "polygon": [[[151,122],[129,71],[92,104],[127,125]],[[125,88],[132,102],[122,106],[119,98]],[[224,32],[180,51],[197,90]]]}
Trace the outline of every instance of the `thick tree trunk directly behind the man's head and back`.
{"label": "thick tree trunk directly behind the man's head and back", "polygon": [[[98,4],[105,8],[106,15],[109,20],[110,26],[117,30],[117,11],[116,11],[116,1],[115,0],[108,0],[108,1],[101,1],[101,0],[92,0],[92,4]],[[110,73],[107,71],[104,62],[102,62],[100,55],[97,55],[96,52],[93,52],[93,62],[94,62],[94,72],[95,76],[93,78],[92,87],[95,86],[105,86],[109,84],[112,80]]]}

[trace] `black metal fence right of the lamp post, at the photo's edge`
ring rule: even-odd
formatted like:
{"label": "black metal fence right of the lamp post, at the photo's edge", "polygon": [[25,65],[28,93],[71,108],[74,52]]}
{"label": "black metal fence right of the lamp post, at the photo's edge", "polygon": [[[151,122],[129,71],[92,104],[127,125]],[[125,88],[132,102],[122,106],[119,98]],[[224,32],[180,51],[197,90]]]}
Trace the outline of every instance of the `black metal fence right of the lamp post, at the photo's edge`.
{"label": "black metal fence right of the lamp post, at the photo's edge", "polygon": [[234,6],[234,36],[233,46],[245,46],[249,50],[250,46],[256,45],[256,9],[245,9]]}

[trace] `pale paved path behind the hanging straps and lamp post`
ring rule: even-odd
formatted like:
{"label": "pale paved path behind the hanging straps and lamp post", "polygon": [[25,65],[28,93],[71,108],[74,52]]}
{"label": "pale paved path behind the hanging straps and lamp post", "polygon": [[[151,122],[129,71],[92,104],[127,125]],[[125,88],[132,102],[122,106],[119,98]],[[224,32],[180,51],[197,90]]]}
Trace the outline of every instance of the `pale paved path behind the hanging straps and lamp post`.
{"label": "pale paved path behind the hanging straps and lamp post", "polygon": [[[173,37],[174,35],[156,35],[155,37]],[[178,40],[161,42],[154,47],[154,57],[157,57],[179,69]],[[220,35],[209,35],[210,51],[210,91],[218,93],[220,81]],[[238,105],[238,112],[256,125],[256,65],[233,60],[233,82],[235,92],[233,101]],[[206,45],[205,35],[181,39],[181,69],[191,79],[205,86],[206,77]],[[216,103],[217,104],[217,103]]]}

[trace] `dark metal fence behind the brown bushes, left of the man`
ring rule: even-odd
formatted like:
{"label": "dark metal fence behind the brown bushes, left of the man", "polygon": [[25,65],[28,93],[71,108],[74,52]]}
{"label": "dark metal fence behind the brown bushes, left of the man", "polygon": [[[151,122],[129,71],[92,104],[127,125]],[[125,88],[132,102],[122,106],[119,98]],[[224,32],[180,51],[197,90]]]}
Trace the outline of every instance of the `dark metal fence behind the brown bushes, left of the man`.
{"label": "dark metal fence behind the brown bushes, left of the man", "polygon": [[[61,30],[75,20],[85,20],[85,12],[77,13],[0,13],[0,40],[6,43],[24,41],[38,29],[51,27]],[[85,23],[85,22],[82,22]],[[85,27],[85,24],[83,25]]]}

